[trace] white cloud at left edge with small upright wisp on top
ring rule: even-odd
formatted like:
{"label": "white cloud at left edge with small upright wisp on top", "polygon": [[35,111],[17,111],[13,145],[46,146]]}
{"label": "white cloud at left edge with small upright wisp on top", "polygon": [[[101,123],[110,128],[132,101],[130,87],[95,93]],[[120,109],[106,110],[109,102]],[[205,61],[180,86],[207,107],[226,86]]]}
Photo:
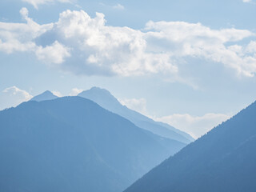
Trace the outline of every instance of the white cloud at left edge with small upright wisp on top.
{"label": "white cloud at left edge with small upright wisp on top", "polygon": [[51,30],[53,23],[38,25],[31,18],[28,18],[28,10],[20,10],[22,18],[26,23],[5,23],[0,22],[0,50],[11,54],[14,51],[34,52],[39,60],[47,63],[62,63],[65,58],[70,57],[70,49],[58,41],[50,46],[37,46],[35,39],[46,31]]}

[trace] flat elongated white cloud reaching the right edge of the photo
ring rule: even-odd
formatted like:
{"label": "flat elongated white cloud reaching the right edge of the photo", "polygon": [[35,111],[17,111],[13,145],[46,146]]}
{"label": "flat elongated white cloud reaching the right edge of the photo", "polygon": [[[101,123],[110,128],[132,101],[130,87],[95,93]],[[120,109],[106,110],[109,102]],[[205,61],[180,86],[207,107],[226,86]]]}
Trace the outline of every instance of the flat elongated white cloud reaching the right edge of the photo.
{"label": "flat elongated white cloud reaching the right edge of the photo", "polygon": [[[148,39],[151,42],[164,41],[170,48],[162,51],[169,52],[174,58],[204,58],[212,62],[221,62],[224,66],[233,68],[239,75],[252,77],[256,72],[256,58],[237,54],[229,49],[226,43],[239,42],[254,34],[249,30],[223,29],[211,30],[201,23],[187,22],[148,22],[146,24]],[[236,45],[234,45],[236,46]],[[159,49],[159,47],[156,47]],[[155,50],[154,44],[150,46]]]}

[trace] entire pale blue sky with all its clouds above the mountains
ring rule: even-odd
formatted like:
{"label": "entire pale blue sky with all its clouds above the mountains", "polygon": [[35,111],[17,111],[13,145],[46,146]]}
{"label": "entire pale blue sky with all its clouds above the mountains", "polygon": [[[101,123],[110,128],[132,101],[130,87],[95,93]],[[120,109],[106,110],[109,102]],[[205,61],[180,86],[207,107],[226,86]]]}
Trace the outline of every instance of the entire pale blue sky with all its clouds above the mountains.
{"label": "entire pale blue sky with all its clouds above the mountains", "polygon": [[256,1],[2,0],[0,110],[92,86],[194,138],[256,99]]}

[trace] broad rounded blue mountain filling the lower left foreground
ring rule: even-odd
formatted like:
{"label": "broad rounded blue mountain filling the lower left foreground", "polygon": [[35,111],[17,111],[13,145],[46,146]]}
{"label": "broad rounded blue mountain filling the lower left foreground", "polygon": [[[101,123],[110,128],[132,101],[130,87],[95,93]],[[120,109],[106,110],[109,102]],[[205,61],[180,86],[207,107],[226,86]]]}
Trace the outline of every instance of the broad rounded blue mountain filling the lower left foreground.
{"label": "broad rounded blue mountain filling the lower left foreground", "polygon": [[0,111],[0,191],[120,192],[185,146],[80,97]]}

